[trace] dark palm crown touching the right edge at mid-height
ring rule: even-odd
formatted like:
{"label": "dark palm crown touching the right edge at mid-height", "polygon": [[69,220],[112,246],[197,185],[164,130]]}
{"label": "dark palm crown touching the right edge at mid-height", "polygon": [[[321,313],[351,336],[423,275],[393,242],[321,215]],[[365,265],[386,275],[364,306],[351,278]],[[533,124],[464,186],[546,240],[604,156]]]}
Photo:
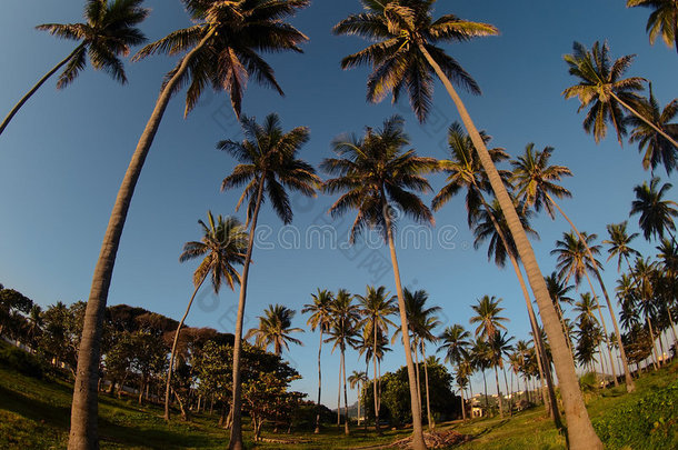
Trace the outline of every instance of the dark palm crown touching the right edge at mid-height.
{"label": "dark palm crown touching the right edge at mid-height", "polygon": [[668,232],[671,240],[675,240],[671,231],[676,230],[674,218],[678,217],[678,203],[672,200],[664,200],[664,196],[672,188],[672,184],[664,183],[660,187],[660,182],[659,177],[654,177],[650,186],[644,182],[642,186],[634,188],[636,200],[631,203],[629,216],[640,214],[638,224],[648,241],[650,237],[662,239],[665,232]]}

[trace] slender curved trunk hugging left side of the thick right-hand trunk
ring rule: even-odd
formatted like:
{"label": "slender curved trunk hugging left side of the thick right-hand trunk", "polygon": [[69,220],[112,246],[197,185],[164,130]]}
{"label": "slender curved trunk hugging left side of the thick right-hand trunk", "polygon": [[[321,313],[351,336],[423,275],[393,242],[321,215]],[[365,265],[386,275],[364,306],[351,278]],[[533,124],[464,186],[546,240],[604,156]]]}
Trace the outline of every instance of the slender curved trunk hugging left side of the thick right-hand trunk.
{"label": "slender curved trunk hugging left side of the thick right-hand trunk", "polygon": [[[532,336],[535,337],[535,353],[537,354],[537,368],[539,369],[539,377],[542,380],[541,381],[541,384],[542,384],[541,398],[544,400],[544,404],[546,406],[546,408],[548,410],[549,416],[551,417],[551,419],[554,420],[554,423],[556,424],[556,428],[561,429],[562,421],[560,419],[560,411],[558,410],[558,407],[557,407],[558,403],[556,401],[556,389],[554,387],[554,379],[550,376],[550,371],[548,371],[548,374],[545,377],[545,372],[546,372],[545,361],[547,358],[546,358],[546,351],[544,351],[545,350],[544,340],[541,339],[541,333],[538,332],[539,327],[537,326],[537,318],[535,317],[535,310],[532,309],[532,302],[530,301],[530,294],[527,291],[527,286],[525,284],[525,278],[522,278],[522,271],[520,270],[520,266],[518,266],[518,260],[516,259],[516,256],[511,251],[508,251],[510,249],[510,247],[508,244],[508,239],[506,238],[503,230],[499,226],[497,218],[492,213],[492,210],[485,201],[485,198],[481,198],[481,201],[485,207],[485,210],[487,211],[487,213],[490,217],[490,220],[492,221],[492,224],[495,226],[495,229],[497,230],[497,234],[499,236],[499,239],[501,240],[503,248],[507,249],[507,254],[509,256],[511,266],[514,267],[514,270],[516,271],[516,277],[518,277],[518,282],[520,283],[520,289],[522,290],[522,297],[525,298],[525,304],[527,306],[527,313],[530,318],[530,327],[532,328]],[[562,314],[560,314],[559,317],[561,319]],[[565,330],[565,324],[562,323],[562,320],[560,321],[560,323],[562,324],[562,329]],[[568,343],[568,349],[570,350],[570,356],[572,356],[572,349],[569,346],[569,339],[566,339],[566,342]],[[574,359],[574,356],[572,356],[572,359]],[[544,389],[544,380],[546,380],[547,392],[545,392],[545,389]],[[548,402],[547,402],[547,394],[548,394]],[[551,406],[555,406],[555,407],[551,408]]]}

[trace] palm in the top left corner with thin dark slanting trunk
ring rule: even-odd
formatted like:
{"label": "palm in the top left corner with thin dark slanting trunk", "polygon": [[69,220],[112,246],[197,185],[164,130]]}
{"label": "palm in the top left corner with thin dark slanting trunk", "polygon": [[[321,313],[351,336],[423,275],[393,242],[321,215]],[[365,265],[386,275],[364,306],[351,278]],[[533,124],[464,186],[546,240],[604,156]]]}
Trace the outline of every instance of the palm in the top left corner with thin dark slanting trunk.
{"label": "palm in the top left corner with thin dark slanting trunk", "polygon": [[79,41],[76,49],[44,74],[7,114],[0,123],[0,134],[19,109],[38,89],[59,69],[66,69],[59,76],[57,89],[63,89],[84,70],[87,58],[97,70],[109,73],[113,80],[124,84],[127,77],[120,57],[127,57],[130,47],[146,41],[143,33],[136,27],[149,14],[150,10],[141,8],[143,0],[87,0],[83,23],[43,23],[36,27],[49,31],[61,39]]}

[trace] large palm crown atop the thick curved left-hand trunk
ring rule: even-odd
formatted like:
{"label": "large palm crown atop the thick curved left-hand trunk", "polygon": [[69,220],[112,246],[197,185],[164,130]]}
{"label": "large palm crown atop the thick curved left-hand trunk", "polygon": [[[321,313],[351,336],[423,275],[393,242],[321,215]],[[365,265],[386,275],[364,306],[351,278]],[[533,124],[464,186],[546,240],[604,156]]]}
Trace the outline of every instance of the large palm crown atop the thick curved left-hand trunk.
{"label": "large palm crown atop the thick curved left-hand trunk", "polygon": [[[240,117],[248,79],[271,87],[282,94],[273,69],[258,52],[292,50],[308,38],[285,19],[310,4],[310,0],[182,0],[195,24],[177,30],[146,46],[134,60],[154,53],[181,54],[199,48],[189,61],[189,70],[175,86],[176,93],[188,84],[186,114],[208,86],[229,93],[236,116]],[[178,71],[179,64],[167,79]]]}

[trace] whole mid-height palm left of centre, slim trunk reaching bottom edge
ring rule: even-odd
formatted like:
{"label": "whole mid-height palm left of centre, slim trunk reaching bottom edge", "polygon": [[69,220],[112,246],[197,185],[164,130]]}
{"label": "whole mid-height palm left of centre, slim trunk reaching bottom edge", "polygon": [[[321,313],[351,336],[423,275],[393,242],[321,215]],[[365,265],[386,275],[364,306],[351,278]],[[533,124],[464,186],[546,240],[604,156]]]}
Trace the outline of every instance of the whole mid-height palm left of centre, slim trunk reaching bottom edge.
{"label": "whole mid-height palm left of centre, slim trunk reaching bottom edge", "polygon": [[236,320],[236,340],[233,343],[233,424],[231,428],[230,449],[242,448],[241,422],[241,379],[240,359],[242,351],[242,320],[247,298],[247,280],[252,258],[255,231],[259,210],[265,199],[270,201],[276,214],[283,223],[292,221],[292,208],[286,189],[297,191],[307,197],[316,196],[316,187],[320,178],[306,161],[297,158],[297,153],[309,139],[306,127],[297,127],[288,132],[282,131],[280,118],[276,113],[268,114],[262,124],[255,118],[242,117],[240,120],[245,140],[237,142],[223,140],[217,148],[235,157],[240,163],[231,174],[223,179],[221,190],[245,186],[236,210],[247,202],[247,224],[250,227],[250,241],[242,266],[242,282]]}

